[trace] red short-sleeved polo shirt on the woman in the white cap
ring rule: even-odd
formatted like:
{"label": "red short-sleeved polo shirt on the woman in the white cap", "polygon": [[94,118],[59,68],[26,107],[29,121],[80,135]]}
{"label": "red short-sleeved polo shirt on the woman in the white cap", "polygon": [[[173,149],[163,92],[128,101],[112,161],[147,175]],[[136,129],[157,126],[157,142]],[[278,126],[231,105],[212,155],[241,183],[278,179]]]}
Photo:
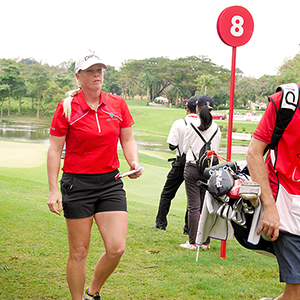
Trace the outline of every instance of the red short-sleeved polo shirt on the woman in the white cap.
{"label": "red short-sleeved polo shirt on the woman in the white cap", "polygon": [[102,174],[120,167],[117,146],[121,128],[134,124],[125,100],[101,91],[95,111],[81,91],[71,102],[71,118],[63,113],[61,101],[52,119],[50,134],[66,136],[62,170],[75,174]]}

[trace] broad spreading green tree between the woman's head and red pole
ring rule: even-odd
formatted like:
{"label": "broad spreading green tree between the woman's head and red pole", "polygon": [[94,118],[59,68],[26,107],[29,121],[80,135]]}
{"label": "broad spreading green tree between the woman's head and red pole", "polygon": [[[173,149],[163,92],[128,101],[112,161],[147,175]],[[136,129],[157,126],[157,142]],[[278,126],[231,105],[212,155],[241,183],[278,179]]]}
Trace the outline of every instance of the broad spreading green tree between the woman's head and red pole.
{"label": "broad spreading green tree between the woman's head and red pole", "polygon": [[123,95],[134,95],[142,91],[151,100],[167,95],[178,106],[182,99],[195,95],[199,87],[196,79],[202,75],[214,78],[214,85],[209,86],[215,88],[216,85],[215,93],[224,87],[228,89],[230,71],[212,63],[206,56],[189,56],[175,60],[154,57],[126,61],[120,69],[120,85]]}

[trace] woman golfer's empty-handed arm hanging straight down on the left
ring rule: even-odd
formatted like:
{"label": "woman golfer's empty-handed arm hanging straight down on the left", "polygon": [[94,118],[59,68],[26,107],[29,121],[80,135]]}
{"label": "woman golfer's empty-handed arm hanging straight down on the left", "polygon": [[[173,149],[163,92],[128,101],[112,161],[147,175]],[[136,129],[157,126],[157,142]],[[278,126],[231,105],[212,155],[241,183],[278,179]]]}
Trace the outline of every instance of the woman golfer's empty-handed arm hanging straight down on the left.
{"label": "woman golfer's empty-handed arm hanging straight down on the left", "polygon": [[[50,211],[60,215],[62,210],[61,194],[58,189],[58,174],[60,160],[66,137],[50,136],[50,146],[47,157],[47,173],[49,184],[48,206]],[[58,207],[57,207],[57,206]]]}

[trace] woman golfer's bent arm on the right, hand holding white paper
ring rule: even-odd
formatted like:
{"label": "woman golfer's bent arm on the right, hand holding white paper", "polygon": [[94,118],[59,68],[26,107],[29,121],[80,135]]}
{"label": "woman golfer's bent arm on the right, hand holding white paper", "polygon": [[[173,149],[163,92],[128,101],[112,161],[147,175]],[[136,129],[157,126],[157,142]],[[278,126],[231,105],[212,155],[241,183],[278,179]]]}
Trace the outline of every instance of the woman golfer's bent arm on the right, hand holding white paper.
{"label": "woman golfer's bent arm on the right, hand holding white paper", "polygon": [[[138,147],[132,134],[132,128],[121,128],[120,143],[123,149],[124,156],[130,167],[130,170],[136,170],[140,167],[138,163]],[[130,178],[138,178],[143,171],[130,175]]]}

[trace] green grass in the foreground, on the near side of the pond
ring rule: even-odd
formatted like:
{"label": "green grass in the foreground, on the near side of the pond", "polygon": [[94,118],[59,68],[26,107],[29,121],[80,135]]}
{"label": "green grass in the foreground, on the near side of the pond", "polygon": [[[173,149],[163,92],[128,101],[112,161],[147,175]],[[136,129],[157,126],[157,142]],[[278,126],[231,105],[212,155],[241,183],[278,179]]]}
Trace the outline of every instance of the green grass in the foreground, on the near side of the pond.
{"label": "green grass in the foreground, on the near side of the pond", "polygon": [[[46,204],[47,146],[0,144],[1,161],[9,166],[0,166],[0,298],[70,300],[65,272],[68,257],[65,220],[51,213]],[[184,186],[172,202],[167,231],[150,229],[155,223],[170,163],[165,154],[157,153],[158,157],[148,154],[140,153],[140,164],[145,168],[142,177],[123,180],[128,198],[126,250],[103,287],[102,299],[256,300],[279,295],[283,284],[279,283],[273,258],[244,249],[236,240],[228,240],[226,259],[220,259],[220,241],[212,240],[211,249],[201,251],[196,262],[196,252],[179,246],[187,241],[182,234],[186,209]],[[19,161],[18,167],[14,160]],[[28,167],[21,167],[24,160],[28,161]],[[121,172],[128,171],[121,154],[120,162]],[[149,250],[159,253],[147,254]],[[102,240],[94,226],[87,282],[103,252]]]}

